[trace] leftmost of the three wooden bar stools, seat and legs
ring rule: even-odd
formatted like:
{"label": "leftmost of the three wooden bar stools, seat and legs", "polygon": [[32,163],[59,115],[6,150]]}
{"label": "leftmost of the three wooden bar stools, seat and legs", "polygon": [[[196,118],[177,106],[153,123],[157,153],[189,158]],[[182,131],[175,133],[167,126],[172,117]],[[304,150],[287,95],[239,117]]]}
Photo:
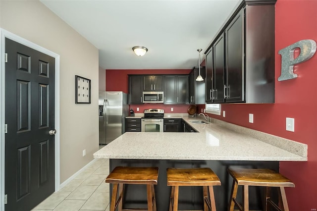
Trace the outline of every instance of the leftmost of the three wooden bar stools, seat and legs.
{"label": "leftmost of the three wooden bar stools, seat and legs", "polygon": [[[124,184],[138,184],[147,186],[148,209],[144,211],[156,211],[156,199],[154,185],[158,184],[158,167],[123,167],[118,166],[107,176],[106,182],[113,183],[110,211],[127,211],[123,209],[123,186]],[[119,188],[118,188],[119,186]],[[119,191],[118,197],[117,192]],[[134,209],[135,210],[135,209]]]}

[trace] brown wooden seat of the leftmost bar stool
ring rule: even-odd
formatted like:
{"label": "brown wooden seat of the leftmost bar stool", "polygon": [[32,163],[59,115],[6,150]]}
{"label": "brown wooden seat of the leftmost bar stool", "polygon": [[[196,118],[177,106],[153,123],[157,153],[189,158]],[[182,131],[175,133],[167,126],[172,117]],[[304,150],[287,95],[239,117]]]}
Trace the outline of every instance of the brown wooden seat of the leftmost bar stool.
{"label": "brown wooden seat of the leftmost bar stool", "polygon": [[107,183],[149,184],[157,185],[158,167],[126,167],[117,166],[107,176]]}

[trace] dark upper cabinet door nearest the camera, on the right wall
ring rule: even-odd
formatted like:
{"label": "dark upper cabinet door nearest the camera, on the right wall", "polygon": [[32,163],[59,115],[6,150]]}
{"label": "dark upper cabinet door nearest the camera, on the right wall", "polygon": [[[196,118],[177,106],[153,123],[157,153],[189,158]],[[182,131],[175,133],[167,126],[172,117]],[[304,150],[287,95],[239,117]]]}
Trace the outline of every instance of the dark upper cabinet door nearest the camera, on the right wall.
{"label": "dark upper cabinet door nearest the camera, on the right wall", "polygon": [[244,101],[243,10],[225,30],[226,37],[226,102]]}

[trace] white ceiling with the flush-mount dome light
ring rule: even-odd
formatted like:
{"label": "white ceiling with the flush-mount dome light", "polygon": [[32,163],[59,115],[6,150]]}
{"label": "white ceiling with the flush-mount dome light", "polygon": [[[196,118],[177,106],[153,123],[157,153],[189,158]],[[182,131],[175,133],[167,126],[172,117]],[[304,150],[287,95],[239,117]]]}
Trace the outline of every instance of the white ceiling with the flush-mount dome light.
{"label": "white ceiling with the flush-mount dome light", "polygon": [[41,0],[99,49],[104,69],[191,69],[240,1]]}

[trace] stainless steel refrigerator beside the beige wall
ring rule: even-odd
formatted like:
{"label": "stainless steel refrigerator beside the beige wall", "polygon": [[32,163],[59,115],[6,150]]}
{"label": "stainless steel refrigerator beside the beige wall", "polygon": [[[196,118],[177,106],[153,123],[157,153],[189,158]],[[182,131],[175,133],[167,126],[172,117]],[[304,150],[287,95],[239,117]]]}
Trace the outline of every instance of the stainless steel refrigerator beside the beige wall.
{"label": "stainless steel refrigerator beside the beige wall", "polygon": [[109,144],[125,132],[128,95],[123,92],[99,92],[99,144]]}

